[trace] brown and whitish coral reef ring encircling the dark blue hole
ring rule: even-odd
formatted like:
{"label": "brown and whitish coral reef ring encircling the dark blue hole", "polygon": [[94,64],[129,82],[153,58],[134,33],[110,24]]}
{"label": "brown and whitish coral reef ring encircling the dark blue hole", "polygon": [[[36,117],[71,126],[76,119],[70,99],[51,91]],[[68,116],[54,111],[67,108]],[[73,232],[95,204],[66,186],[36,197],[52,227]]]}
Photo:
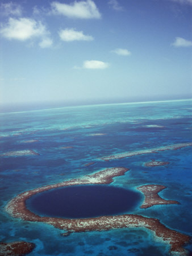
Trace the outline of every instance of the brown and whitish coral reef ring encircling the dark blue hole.
{"label": "brown and whitish coral reef ring encircling the dark blue hole", "polygon": [[[35,195],[36,193],[69,185],[110,184],[112,183],[114,177],[122,176],[127,171],[128,169],[123,167],[106,168],[104,170],[95,172],[94,174],[82,176],[80,179],[67,180],[62,183],[32,189],[30,191],[20,193],[20,195],[14,197],[14,199],[12,199],[6,205],[6,211],[11,214],[11,216],[21,218],[22,220],[45,222],[47,224],[53,225],[55,226],[55,228],[64,230],[64,235],[68,235],[71,232],[101,231],[118,228],[147,228],[149,230],[152,230],[153,234],[157,238],[161,238],[164,242],[169,243],[170,253],[187,255],[187,251],[182,246],[185,245],[185,243],[189,242],[190,237],[167,228],[165,225],[161,224],[161,222],[156,218],[148,218],[137,214],[122,214],[118,216],[65,219],[56,217],[41,217],[35,213],[32,213],[26,208],[26,200],[32,195]],[[160,185],[151,186],[157,187],[155,189],[154,187],[152,188],[150,187],[150,185],[148,185],[148,189],[146,186],[143,186],[145,187],[145,189],[143,190],[142,187],[139,187],[139,190],[141,192],[144,191],[145,201],[147,198],[148,205],[155,205],[155,201],[156,204],[159,204],[160,200],[163,199],[160,198],[157,200],[157,193],[163,188]],[[150,190],[152,190],[153,193],[148,193],[148,191]],[[164,201],[168,202],[166,200]],[[145,203],[143,205],[145,205]]]}

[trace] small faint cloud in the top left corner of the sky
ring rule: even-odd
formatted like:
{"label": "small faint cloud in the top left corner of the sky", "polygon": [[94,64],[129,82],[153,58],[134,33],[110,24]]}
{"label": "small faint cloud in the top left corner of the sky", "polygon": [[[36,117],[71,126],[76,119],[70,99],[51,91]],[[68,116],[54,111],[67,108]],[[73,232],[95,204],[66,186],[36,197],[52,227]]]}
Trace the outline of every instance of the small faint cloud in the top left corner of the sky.
{"label": "small faint cloud in the top left corner of the sky", "polygon": [[0,6],[1,13],[5,16],[15,15],[20,16],[22,15],[22,7],[16,3],[2,3]]}

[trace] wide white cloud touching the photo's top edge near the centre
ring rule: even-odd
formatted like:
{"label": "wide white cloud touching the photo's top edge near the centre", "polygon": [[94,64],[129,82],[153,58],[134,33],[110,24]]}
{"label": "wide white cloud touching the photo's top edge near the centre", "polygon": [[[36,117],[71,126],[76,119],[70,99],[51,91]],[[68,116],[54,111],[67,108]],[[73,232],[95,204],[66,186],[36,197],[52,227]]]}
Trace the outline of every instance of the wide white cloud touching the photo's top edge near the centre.
{"label": "wide white cloud touching the photo's top edge near the centre", "polygon": [[52,13],[62,14],[68,18],[99,19],[101,14],[92,0],[75,1],[70,5],[60,2],[52,2]]}

